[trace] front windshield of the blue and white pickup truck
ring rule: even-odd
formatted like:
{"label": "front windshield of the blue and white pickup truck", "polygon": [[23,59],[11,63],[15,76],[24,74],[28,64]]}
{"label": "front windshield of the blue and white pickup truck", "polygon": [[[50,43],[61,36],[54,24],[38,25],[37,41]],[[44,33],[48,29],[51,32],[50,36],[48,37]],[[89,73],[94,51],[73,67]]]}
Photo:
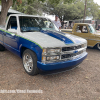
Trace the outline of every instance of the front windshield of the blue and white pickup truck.
{"label": "front windshield of the blue and white pickup truck", "polygon": [[21,32],[35,32],[40,30],[59,31],[58,28],[46,18],[20,16],[19,22]]}

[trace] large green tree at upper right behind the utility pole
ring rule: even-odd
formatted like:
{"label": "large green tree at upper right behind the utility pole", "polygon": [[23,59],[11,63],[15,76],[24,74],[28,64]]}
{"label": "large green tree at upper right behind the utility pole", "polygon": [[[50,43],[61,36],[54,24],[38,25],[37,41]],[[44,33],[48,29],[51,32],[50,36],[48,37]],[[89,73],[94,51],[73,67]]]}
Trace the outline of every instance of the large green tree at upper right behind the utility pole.
{"label": "large green tree at upper right behind the utility pole", "polygon": [[[44,6],[44,12],[49,14],[58,15],[60,20],[75,20],[83,19],[84,17],[84,4],[85,0],[75,0],[72,3],[62,3],[59,2],[57,6],[47,2]],[[86,17],[93,16],[93,19],[97,19],[98,11],[100,7],[93,2],[93,0],[88,0]]]}

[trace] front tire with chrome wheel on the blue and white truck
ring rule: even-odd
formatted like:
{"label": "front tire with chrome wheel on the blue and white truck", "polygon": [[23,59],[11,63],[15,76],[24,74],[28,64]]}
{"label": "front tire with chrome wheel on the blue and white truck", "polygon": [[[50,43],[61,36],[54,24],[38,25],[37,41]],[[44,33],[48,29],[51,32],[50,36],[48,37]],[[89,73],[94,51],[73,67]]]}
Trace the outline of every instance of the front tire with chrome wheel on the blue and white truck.
{"label": "front tire with chrome wheel on the blue and white truck", "polygon": [[26,73],[32,76],[39,73],[37,68],[37,56],[33,51],[26,49],[23,53],[22,60]]}

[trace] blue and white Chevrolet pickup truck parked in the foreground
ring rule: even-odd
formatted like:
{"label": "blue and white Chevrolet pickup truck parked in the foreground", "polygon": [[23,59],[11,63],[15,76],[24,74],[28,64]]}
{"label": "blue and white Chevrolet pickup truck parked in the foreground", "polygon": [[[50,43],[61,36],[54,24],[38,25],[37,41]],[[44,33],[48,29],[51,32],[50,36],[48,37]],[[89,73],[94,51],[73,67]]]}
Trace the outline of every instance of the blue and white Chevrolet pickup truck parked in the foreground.
{"label": "blue and white Chevrolet pickup truck parked in the foreground", "polygon": [[87,56],[87,41],[62,33],[47,18],[12,14],[0,28],[0,51],[20,56],[29,75],[72,69]]}

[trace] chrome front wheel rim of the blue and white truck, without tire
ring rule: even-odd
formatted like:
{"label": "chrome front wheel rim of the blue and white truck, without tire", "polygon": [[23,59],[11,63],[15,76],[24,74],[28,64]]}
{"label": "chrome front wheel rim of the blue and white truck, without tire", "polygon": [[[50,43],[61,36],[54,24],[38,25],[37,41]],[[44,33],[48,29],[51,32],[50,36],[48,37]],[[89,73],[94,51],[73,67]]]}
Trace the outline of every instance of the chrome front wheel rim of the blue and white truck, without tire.
{"label": "chrome front wheel rim of the blue and white truck, without tire", "polygon": [[27,72],[32,72],[33,70],[33,59],[29,53],[25,53],[23,56],[23,65]]}

